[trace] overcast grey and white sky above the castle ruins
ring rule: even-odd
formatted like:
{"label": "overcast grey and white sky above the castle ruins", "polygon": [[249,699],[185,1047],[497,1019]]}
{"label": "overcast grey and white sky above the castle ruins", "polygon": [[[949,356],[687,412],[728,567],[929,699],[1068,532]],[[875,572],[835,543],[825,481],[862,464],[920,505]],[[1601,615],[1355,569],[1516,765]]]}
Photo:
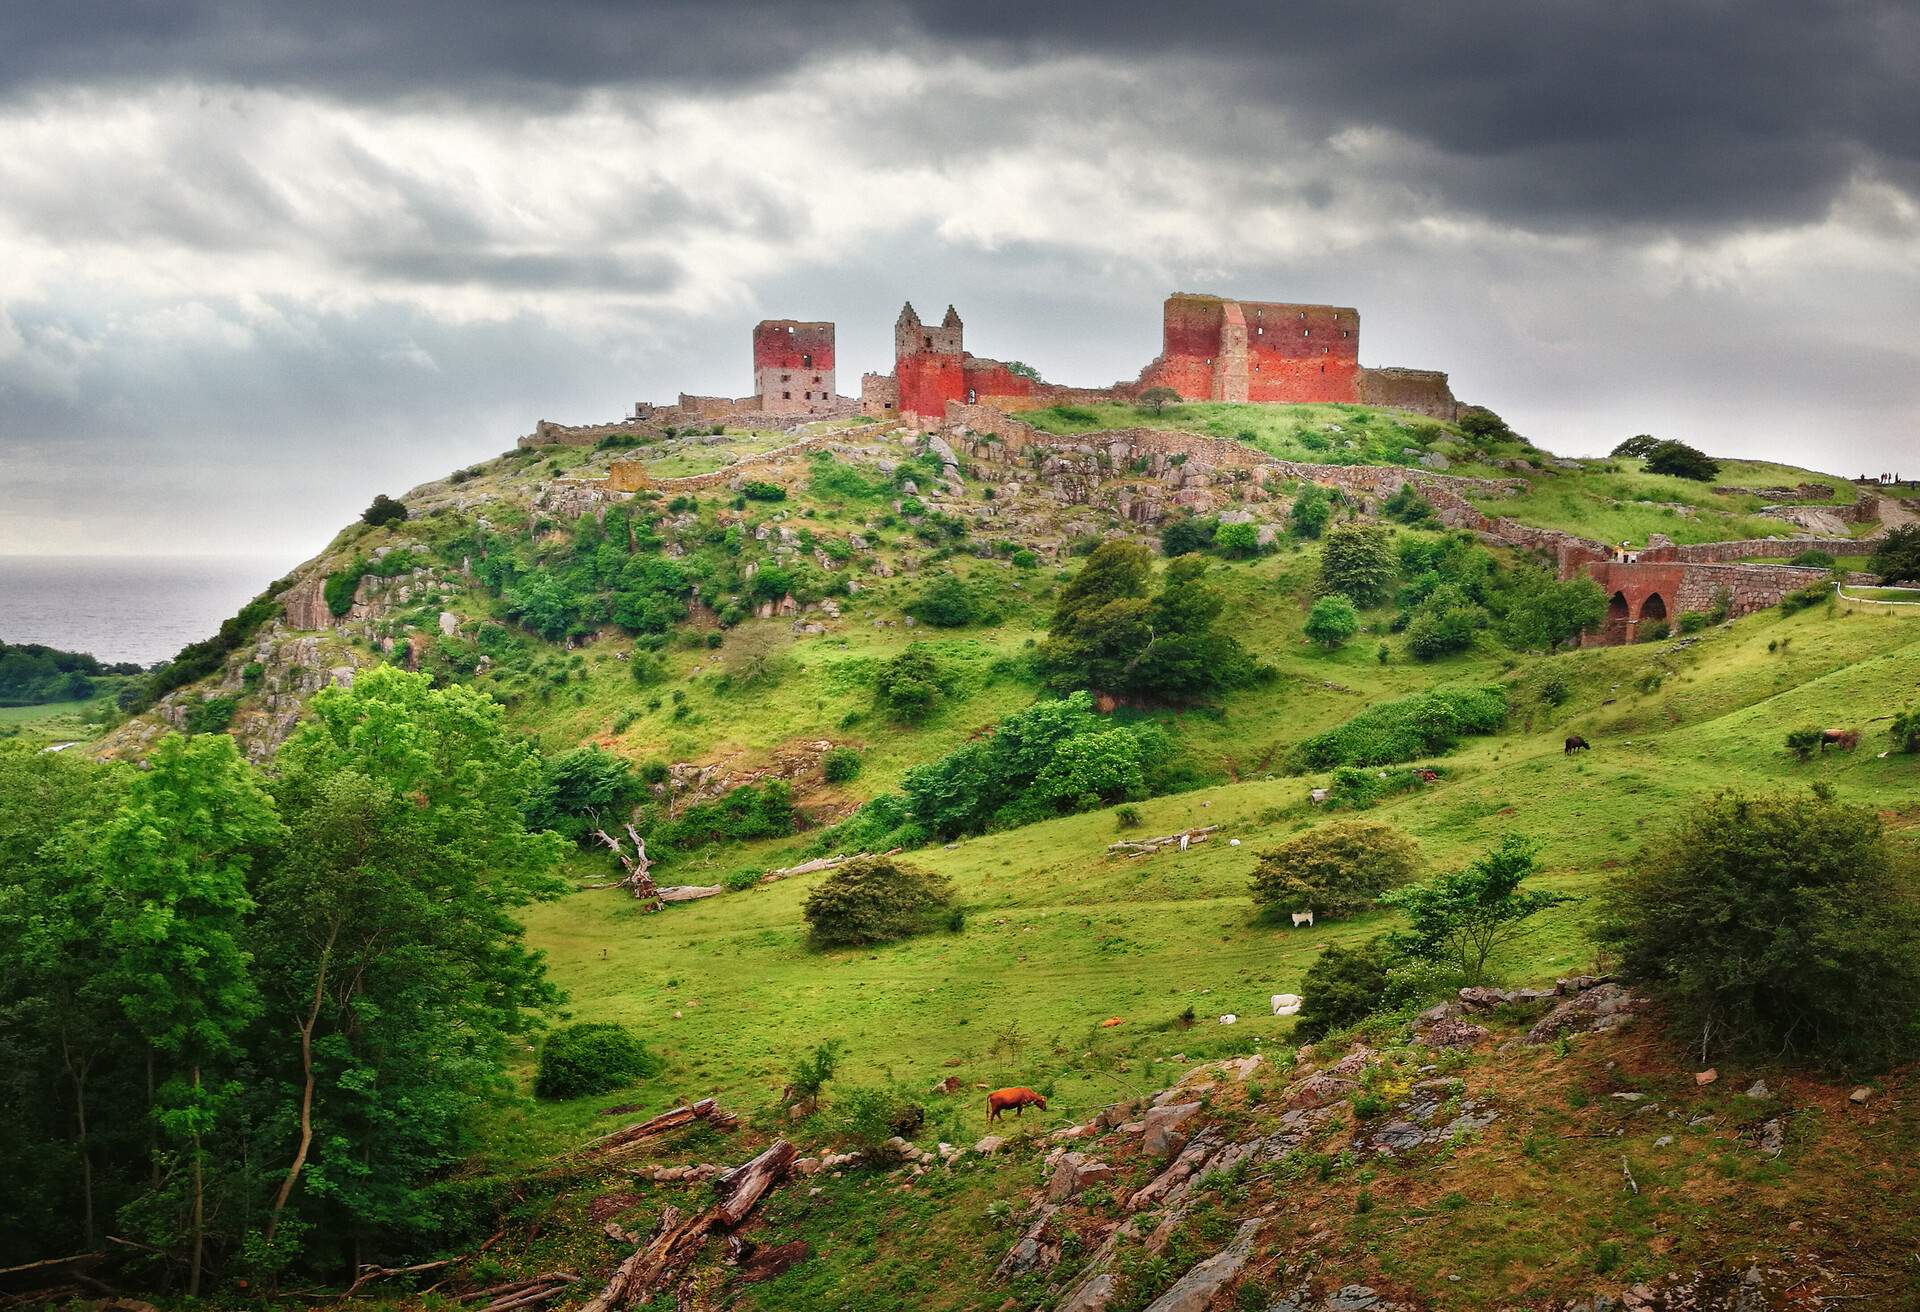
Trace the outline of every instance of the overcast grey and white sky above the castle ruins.
{"label": "overcast grey and white sky above the castle ruins", "polygon": [[0,0],[0,553],[298,559],[902,300],[1048,378],[1357,305],[1563,453],[1920,474],[1907,0]]}

